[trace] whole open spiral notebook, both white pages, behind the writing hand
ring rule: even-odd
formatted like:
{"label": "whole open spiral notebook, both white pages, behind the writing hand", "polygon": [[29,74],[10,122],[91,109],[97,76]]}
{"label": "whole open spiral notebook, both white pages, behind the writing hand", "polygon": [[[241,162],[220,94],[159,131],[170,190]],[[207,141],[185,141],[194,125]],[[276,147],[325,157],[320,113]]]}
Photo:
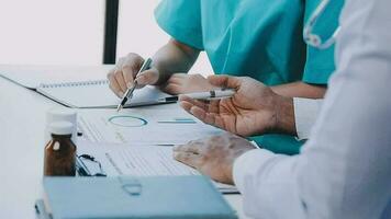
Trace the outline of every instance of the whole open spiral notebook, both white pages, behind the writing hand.
{"label": "whole open spiral notebook, both white pages, behind the writing hand", "polygon": [[[114,108],[121,100],[109,89],[112,65],[96,67],[0,66],[0,76],[76,108]],[[170,95],[154,87],[136,90],[125,107],[158,104]]]}

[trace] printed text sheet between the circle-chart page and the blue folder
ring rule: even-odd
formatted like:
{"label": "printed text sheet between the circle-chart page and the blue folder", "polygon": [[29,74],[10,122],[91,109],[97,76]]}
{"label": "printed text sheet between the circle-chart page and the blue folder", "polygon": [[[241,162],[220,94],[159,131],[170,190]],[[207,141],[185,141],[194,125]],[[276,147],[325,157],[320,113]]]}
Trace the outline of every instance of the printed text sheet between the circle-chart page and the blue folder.
{"label": "printed text sheet between the circle-chart page and the blue folder", "polygon": [[[199,175],[172,158],[172,147],[108,145],[78,141],[78,154],[92,155],[108,176]],[[90,166],[86,164],[87,166]],[[94,166],[92,166],[94,168]],[[90,171],[93,172],[93,171]],[[222,193],[236,193],[234,186],[215,183]]]}

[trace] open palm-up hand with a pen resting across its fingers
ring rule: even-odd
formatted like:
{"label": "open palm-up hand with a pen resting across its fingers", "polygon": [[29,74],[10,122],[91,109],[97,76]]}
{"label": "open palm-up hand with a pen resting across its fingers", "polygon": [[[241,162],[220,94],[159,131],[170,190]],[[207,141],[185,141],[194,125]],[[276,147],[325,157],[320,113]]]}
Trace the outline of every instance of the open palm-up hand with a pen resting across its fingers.
{"label": "open palm-up hand with a pen resting across its fingers", "polygon": [[[179,96],[182,108],[200,120],[246,137],[273,131],[294,135],[292,99],[278,95],[269,87],[247,77],[211,76],[208,80],[226,90],[214,95]],[[209,101],[204,101],[205,96]]]}

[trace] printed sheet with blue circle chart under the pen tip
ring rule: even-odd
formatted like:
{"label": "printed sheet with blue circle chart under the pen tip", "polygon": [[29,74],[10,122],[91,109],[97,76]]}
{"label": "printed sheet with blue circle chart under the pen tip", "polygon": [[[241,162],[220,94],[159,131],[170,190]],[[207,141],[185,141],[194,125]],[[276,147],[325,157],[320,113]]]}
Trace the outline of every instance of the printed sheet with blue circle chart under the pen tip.
{"label": "printed sheet with blue circle chart under the pen tip", "polygon": [[78,126],[92,142],[135,145],[181,145],[221,135],[223,130],[205,125],[178,105],[160,108],[80,110]]}

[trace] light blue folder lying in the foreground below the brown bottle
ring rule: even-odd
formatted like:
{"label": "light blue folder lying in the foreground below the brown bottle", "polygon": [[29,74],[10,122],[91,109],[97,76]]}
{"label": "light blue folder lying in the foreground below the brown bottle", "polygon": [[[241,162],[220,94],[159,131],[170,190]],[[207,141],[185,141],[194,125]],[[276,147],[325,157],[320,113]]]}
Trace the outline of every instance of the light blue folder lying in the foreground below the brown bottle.
{"label": "light blue folder lying in the foreground below the brown bottle", "polygon": [[45,177],[43,186],[55,219],[237,218],[204,176]]}

